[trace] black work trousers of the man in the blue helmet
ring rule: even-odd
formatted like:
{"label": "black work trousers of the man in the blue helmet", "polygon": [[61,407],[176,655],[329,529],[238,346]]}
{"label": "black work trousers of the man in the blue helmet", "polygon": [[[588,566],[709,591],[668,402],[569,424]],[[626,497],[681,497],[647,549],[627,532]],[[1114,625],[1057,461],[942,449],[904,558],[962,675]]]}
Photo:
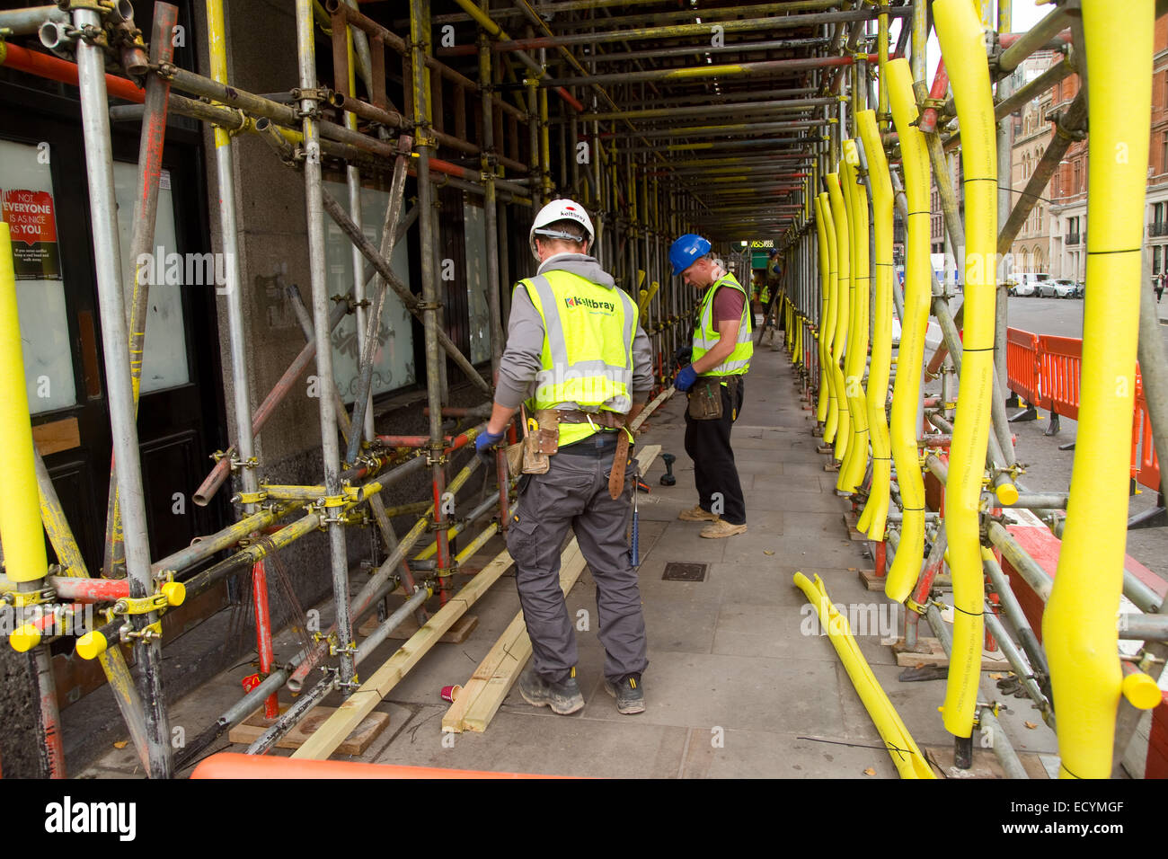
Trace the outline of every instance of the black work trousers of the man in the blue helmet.
{"label": "black work trousers of the man in the blue helmet", "polygon": [[719,387],[722,417],[695,421],[687,409],[686,452],[694,460],[698,506],[708,513],[717,513],[731,525],[745,525],[746,501],[730,448],[730,430],[742,414],[745,376],[738,376],[738,390],[732,397],[726,386]]}

